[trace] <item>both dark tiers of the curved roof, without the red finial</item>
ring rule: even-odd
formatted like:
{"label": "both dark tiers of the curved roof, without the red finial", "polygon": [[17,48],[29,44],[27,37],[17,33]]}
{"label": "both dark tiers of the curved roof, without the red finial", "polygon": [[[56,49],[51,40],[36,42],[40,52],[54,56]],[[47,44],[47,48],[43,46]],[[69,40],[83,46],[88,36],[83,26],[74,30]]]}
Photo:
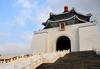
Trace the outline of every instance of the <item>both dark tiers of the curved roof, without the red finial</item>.
{"label": "both dark tiers of the curved roof, without the red finial", "polygon": [[50,17],[46,22],[42,24],[45,26],[44,29],[58,27],[60,22],[65,22],[65,25],[86,23],[90,21],[92,14],[81,14],[74,8],[70,11],[63,12],[60,14],[54,14],[50,12]]}

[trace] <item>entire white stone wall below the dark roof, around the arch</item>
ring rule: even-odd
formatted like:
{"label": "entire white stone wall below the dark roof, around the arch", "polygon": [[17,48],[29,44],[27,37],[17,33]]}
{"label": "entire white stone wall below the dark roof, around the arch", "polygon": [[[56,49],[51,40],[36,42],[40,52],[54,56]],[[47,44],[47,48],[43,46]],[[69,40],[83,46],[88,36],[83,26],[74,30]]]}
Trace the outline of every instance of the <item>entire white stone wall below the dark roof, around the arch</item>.
{"label": "entire white stone wall below the dark roof, around the arch", "polygon": [[[64,31],[60,31],[59,27],[36,31],[34,32],[34,37],[33,37],[32,45],[30,48],[30,52],[42,53],[42,52],[56,51],[56,42],[57,42],[57,39],[61,36],[67,36],[70,39],[71,51],[84,50],[87,48],[87,44],[88,44],[88,43],[87,44],[84,43],[87,40],[86,39],[87,35],[89,37],[90,36],[89,34],[92,33],[91,37],[92,39],[94,39],[93,32],[95,31],[95,37],[99,36],[97,35],[98,31],[95,29],[96,26],[95,28],[92,28],[92,31],[91,31],[91,28],[87,29],[85,27],[85,26],[91,27],[91,25],[95,25],[95,23],[81,23],[81,24],[69,25],[69,26],[66,26],[66,29]],[[88,33],[88,31],[91,31],[91,32]],[[96,37],[95,39],[97,40],[98,37]],[[90,39],[88,39],[87,41],[90,41]],[[97,44],[99,43],[100,42],[97,40]],[[84,48],[84,46],[86,46],[86,48]]]}

